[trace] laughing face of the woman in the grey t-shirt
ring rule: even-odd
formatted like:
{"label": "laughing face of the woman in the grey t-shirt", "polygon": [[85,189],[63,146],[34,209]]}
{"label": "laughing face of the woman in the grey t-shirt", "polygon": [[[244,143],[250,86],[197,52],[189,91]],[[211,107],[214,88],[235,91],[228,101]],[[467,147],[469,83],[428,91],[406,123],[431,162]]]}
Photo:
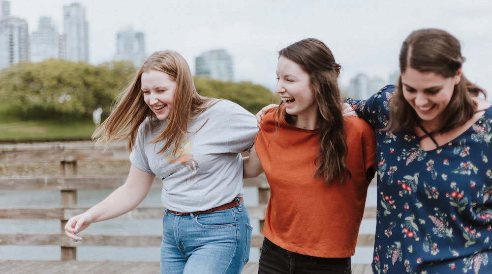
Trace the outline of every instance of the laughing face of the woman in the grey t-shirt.
{"label": "laughing face of the woman in the grey t-shirt", "polygon": [[159,120],[169,117],[172,110],[176,82],[166,73],[149,70],[142,73],[144,101]]}

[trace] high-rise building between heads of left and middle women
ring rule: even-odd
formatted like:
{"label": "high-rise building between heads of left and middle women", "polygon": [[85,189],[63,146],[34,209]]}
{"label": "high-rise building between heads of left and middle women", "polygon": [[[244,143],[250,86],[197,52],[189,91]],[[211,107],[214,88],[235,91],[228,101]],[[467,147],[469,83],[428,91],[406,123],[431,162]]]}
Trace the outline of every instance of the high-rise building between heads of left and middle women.
{"label": "high-rise building between heads of left and middle women", "polygon": [[232,56],[226,50],[212,50],[195,58],[195,75],[221,81],[234,81]]}

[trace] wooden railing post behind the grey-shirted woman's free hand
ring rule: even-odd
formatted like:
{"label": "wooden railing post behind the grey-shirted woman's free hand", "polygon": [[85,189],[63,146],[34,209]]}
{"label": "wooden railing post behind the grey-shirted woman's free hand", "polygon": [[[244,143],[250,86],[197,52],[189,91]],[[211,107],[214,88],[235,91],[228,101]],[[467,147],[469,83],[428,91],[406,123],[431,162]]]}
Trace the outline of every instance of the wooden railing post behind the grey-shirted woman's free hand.
{"label": "wooden railing post behind the grey-shirted woman's free hand", "polygon": [[[77,174],[77,161],[62,161],[60,163],[60,171],[63,176],[71,176]],[[61,190],[60,191],[60,204],[64,206],[73,206],[77,204],[77,190]],[[61,220],[61,229],[64,233],[65,224],[67,220]],[[61,260],[77,260],[77,247],[60,247],[61,248]]]}

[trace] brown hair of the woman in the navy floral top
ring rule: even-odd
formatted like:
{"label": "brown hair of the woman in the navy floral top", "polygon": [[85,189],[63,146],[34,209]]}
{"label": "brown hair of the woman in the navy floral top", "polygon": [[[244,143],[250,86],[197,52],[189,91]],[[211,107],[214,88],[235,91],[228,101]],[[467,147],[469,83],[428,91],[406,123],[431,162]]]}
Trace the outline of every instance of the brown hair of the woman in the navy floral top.
{"label": "brown hair of the woman in the navy floral top", "polygon": [[[444,78],[454,77],[465,58],[460,41],[447,31],[436,28],[415,30],[403,41],[400,50],[400,73],[410,67],[420,72],[433,72]],[[461,74],[448,106],[443,110],[442,123],[434,133],[443,133],[461,126],[475,112],[473,96],[487,96],[485,91]],[[394,132],[413,132],[422,119],[403,97],[401,76],[391,99],[390,122],[387,129]]]}

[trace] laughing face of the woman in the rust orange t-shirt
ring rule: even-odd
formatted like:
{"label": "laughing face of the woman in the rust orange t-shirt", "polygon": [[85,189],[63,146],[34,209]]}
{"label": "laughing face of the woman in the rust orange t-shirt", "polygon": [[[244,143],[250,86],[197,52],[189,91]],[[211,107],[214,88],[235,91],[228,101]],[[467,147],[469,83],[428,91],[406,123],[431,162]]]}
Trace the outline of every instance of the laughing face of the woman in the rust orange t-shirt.
{"label": "laughing face of the woman in the rust orange t-shirt", "polygon": [[316,117],[318,106],[314,100],[309,74],[296,62],[282,55],[277,63],[276,92],[288,114],[298,115],[299,118]]}

